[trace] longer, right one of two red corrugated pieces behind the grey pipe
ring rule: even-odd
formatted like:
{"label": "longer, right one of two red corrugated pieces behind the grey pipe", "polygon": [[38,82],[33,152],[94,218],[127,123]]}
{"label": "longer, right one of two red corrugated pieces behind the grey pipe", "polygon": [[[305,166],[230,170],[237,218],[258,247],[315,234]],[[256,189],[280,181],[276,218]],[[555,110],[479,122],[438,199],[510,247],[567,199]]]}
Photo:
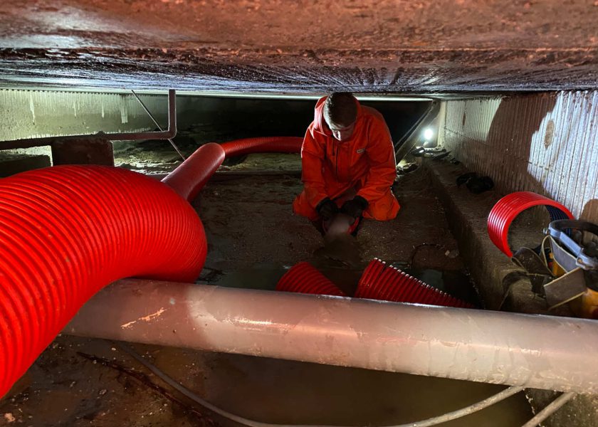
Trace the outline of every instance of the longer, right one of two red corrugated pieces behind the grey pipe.
{"label": "longer, right one of two red corrugated pieces behind the grey pipe", "polygon": [[468,302],[432,288],[377,258],[364,270],[355,297],[444,307],[472,307]]}

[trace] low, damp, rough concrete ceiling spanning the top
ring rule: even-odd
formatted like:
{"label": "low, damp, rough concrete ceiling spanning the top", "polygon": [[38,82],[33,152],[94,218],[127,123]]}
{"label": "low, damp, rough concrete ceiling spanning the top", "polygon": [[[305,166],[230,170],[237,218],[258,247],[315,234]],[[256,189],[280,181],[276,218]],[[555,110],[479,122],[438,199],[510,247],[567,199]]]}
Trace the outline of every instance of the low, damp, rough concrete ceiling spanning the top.
{"label": "low, damp, rough concrete ceiling spanning the top", "polygon": [[4,0],[0,86],[591,89],[597,23],[596,0]]}

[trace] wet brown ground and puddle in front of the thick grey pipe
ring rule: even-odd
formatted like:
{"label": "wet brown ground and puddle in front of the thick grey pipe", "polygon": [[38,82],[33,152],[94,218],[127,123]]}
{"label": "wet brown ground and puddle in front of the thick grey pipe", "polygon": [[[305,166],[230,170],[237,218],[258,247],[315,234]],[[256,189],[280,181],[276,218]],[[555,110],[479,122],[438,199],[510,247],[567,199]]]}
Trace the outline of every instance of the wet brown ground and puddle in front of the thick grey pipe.
{"label": "wet brown ground and puddle in front of the thick grey pipe", "polygon": [[[426,376],[135,346],[213,404],[268,423],[378,426],[417,421],[472,404],[503,387]],[[131,370],[134,369],[134,370]],[[2,426],[234,426],[159,381],[117,344],[59,337],[0,403]],[[147,384],[177,396],[173,402]],[[9,423],[6,414],[15,418]],[[531,418],[516,395],[443,426],[520,426]]]}

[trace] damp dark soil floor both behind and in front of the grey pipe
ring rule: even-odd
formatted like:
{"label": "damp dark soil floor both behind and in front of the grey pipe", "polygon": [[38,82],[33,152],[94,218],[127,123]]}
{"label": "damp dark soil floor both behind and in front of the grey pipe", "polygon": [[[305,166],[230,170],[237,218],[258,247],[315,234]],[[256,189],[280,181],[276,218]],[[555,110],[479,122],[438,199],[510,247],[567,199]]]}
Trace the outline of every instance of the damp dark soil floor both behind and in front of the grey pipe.
{"label": "damp dark soil floor both behind and in front of the grey pipe", "polygon": [[[444,210],[423,169],[399,177],[396,219],[364,220],[349,244],[325,246],[291,203],[298,155],[251,155],[214,176],[193,206],[206,228],[198,283],[273,289],[309,261],[348,290],[372,258],[480,304]],[[243,167],[243,163],[246,164]],[[263,170],[268,169],[268,174]],[[273,172],[274,171],[274,172]],[[137,352],[212,404],[268,423],[387,426],[473,404],[503,386],[135,344]],[[520,426],[532,413],[518,394],[443,426]],[[170,389],[101,339],[61,335],[0,401],[0,426],[234,426]]]}

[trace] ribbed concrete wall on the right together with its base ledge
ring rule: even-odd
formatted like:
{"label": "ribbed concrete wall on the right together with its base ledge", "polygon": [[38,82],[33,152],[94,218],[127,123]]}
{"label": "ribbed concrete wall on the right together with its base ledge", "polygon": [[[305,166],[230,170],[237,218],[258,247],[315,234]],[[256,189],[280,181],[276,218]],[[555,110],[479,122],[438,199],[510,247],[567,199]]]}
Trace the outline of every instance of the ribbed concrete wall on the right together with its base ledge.
{"label": "ribbed concrete wall on the right together with its base ledge", "polygon": [[[536,191],[565,204],[575,216],[598,223],[598,91],[453,100],[444,107],[440,143],[468,169],[491,176],[503,194]],[[496,199],[488,193],[472,199],[466,190],[456,189],[456,174],[436,170],[434,176],[446,177],[444,183],[437,179],[443,184],[441,196],[453,191],[445,197],[453,201],[446,204],[451,228],[472,274],[484,284],[486,301],[495,307],[504,292],[503,278],[515,269],[486,234],[486,213]],[[471,209],[468,201],[486,205]],[[484,214],[476,216],[479,212]],[[482,254],[486,262],[476,263]],[[530,293],[529,283],[515,283],[510,291],[513,310],[541,312],[538,307],[545,303]],[[526,393],[536,413],[557,396],[533,389]],[[598,397],[580,395],[542,425],[595,426],[597,413]]]}

